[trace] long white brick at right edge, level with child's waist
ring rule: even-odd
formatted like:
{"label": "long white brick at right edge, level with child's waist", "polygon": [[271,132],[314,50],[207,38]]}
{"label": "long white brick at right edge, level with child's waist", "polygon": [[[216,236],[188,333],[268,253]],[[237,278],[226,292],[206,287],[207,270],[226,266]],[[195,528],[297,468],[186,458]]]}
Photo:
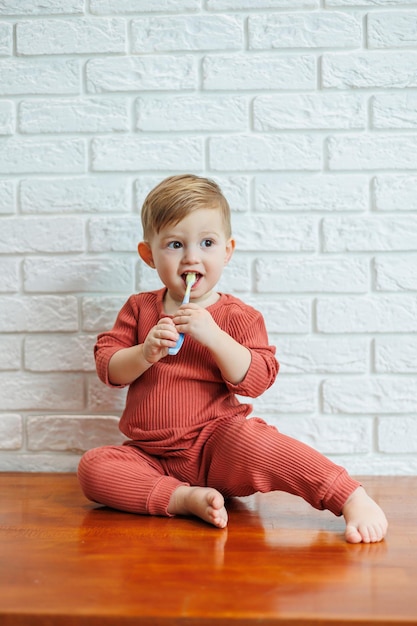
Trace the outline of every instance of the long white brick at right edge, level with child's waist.
{"label": "long white brick at right edge, level with child's waist", "polygon": [[323,383],[325,413],[410,413],[417,410],[415,377],[328,378]]}

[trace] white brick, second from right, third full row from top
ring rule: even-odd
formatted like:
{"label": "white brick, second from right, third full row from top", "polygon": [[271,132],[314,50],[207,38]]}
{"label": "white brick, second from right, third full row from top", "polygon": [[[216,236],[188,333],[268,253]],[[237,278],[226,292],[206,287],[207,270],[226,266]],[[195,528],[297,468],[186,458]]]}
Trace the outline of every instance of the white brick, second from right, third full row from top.
{"label": "white brick, second from right, third full row from top", "polygon": [[366,107],[357,94],[291,94],[254,99],[255,130],[365,128]]}

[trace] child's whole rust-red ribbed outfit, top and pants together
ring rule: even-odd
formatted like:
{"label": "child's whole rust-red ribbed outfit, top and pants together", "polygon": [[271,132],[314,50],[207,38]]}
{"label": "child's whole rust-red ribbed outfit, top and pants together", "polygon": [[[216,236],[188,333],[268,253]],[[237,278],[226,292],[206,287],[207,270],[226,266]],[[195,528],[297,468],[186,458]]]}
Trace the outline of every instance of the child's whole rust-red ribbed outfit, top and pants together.
{"label": "child's whole rust-red ribbed outfit, top and pants together", "polygon": [[[95,358],[103,382],[110,385],[112,355],[143,343],[166,316],[164,294],[131,296],[113,329],[99,335]],[[85,495],[124,511],[168,515],[173,491],[184,484],[215,487],[226,498],[280,490],[340,515],[359,483],[309,446],[248,417],[252,406],[236,398],[259,396],[278,373],[261,314],[226,294],[208,311],[251,351],[244,380],[225,381],[208,350],[186,336],[176,356],[161,359],[129,386],[120,420],[128,441],[82,457],[78,476]]]}

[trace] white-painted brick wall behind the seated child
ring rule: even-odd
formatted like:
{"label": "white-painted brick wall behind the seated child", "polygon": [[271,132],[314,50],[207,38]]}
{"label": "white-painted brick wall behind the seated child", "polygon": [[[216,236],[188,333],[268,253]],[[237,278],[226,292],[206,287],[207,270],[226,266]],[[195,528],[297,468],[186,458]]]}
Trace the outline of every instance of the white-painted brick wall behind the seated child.
{"label": "white-painted brick wall behind the seated child", "polygon": [[120,442],[92,347],[163,177],[215,178],[281,373],[255,411],[417,472],[417,0],[0,2],[0,470]]}

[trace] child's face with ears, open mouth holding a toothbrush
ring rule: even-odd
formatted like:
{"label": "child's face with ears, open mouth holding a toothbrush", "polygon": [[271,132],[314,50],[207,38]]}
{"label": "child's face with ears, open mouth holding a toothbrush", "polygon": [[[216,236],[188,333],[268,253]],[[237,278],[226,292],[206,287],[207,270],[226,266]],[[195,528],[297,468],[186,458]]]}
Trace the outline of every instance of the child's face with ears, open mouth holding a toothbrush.
{"label": "child's face with ears, open mouth holding a toothbrush", "polygon": [[206,301],[229,262],[235,242],[225,234],[218,209],[197,209],[175,226],[165,226],[149,243],[139,244],[139,254],[168,289],[170,297],[181,301],[185,276],[195,272],[191,290],[193,302]]}

